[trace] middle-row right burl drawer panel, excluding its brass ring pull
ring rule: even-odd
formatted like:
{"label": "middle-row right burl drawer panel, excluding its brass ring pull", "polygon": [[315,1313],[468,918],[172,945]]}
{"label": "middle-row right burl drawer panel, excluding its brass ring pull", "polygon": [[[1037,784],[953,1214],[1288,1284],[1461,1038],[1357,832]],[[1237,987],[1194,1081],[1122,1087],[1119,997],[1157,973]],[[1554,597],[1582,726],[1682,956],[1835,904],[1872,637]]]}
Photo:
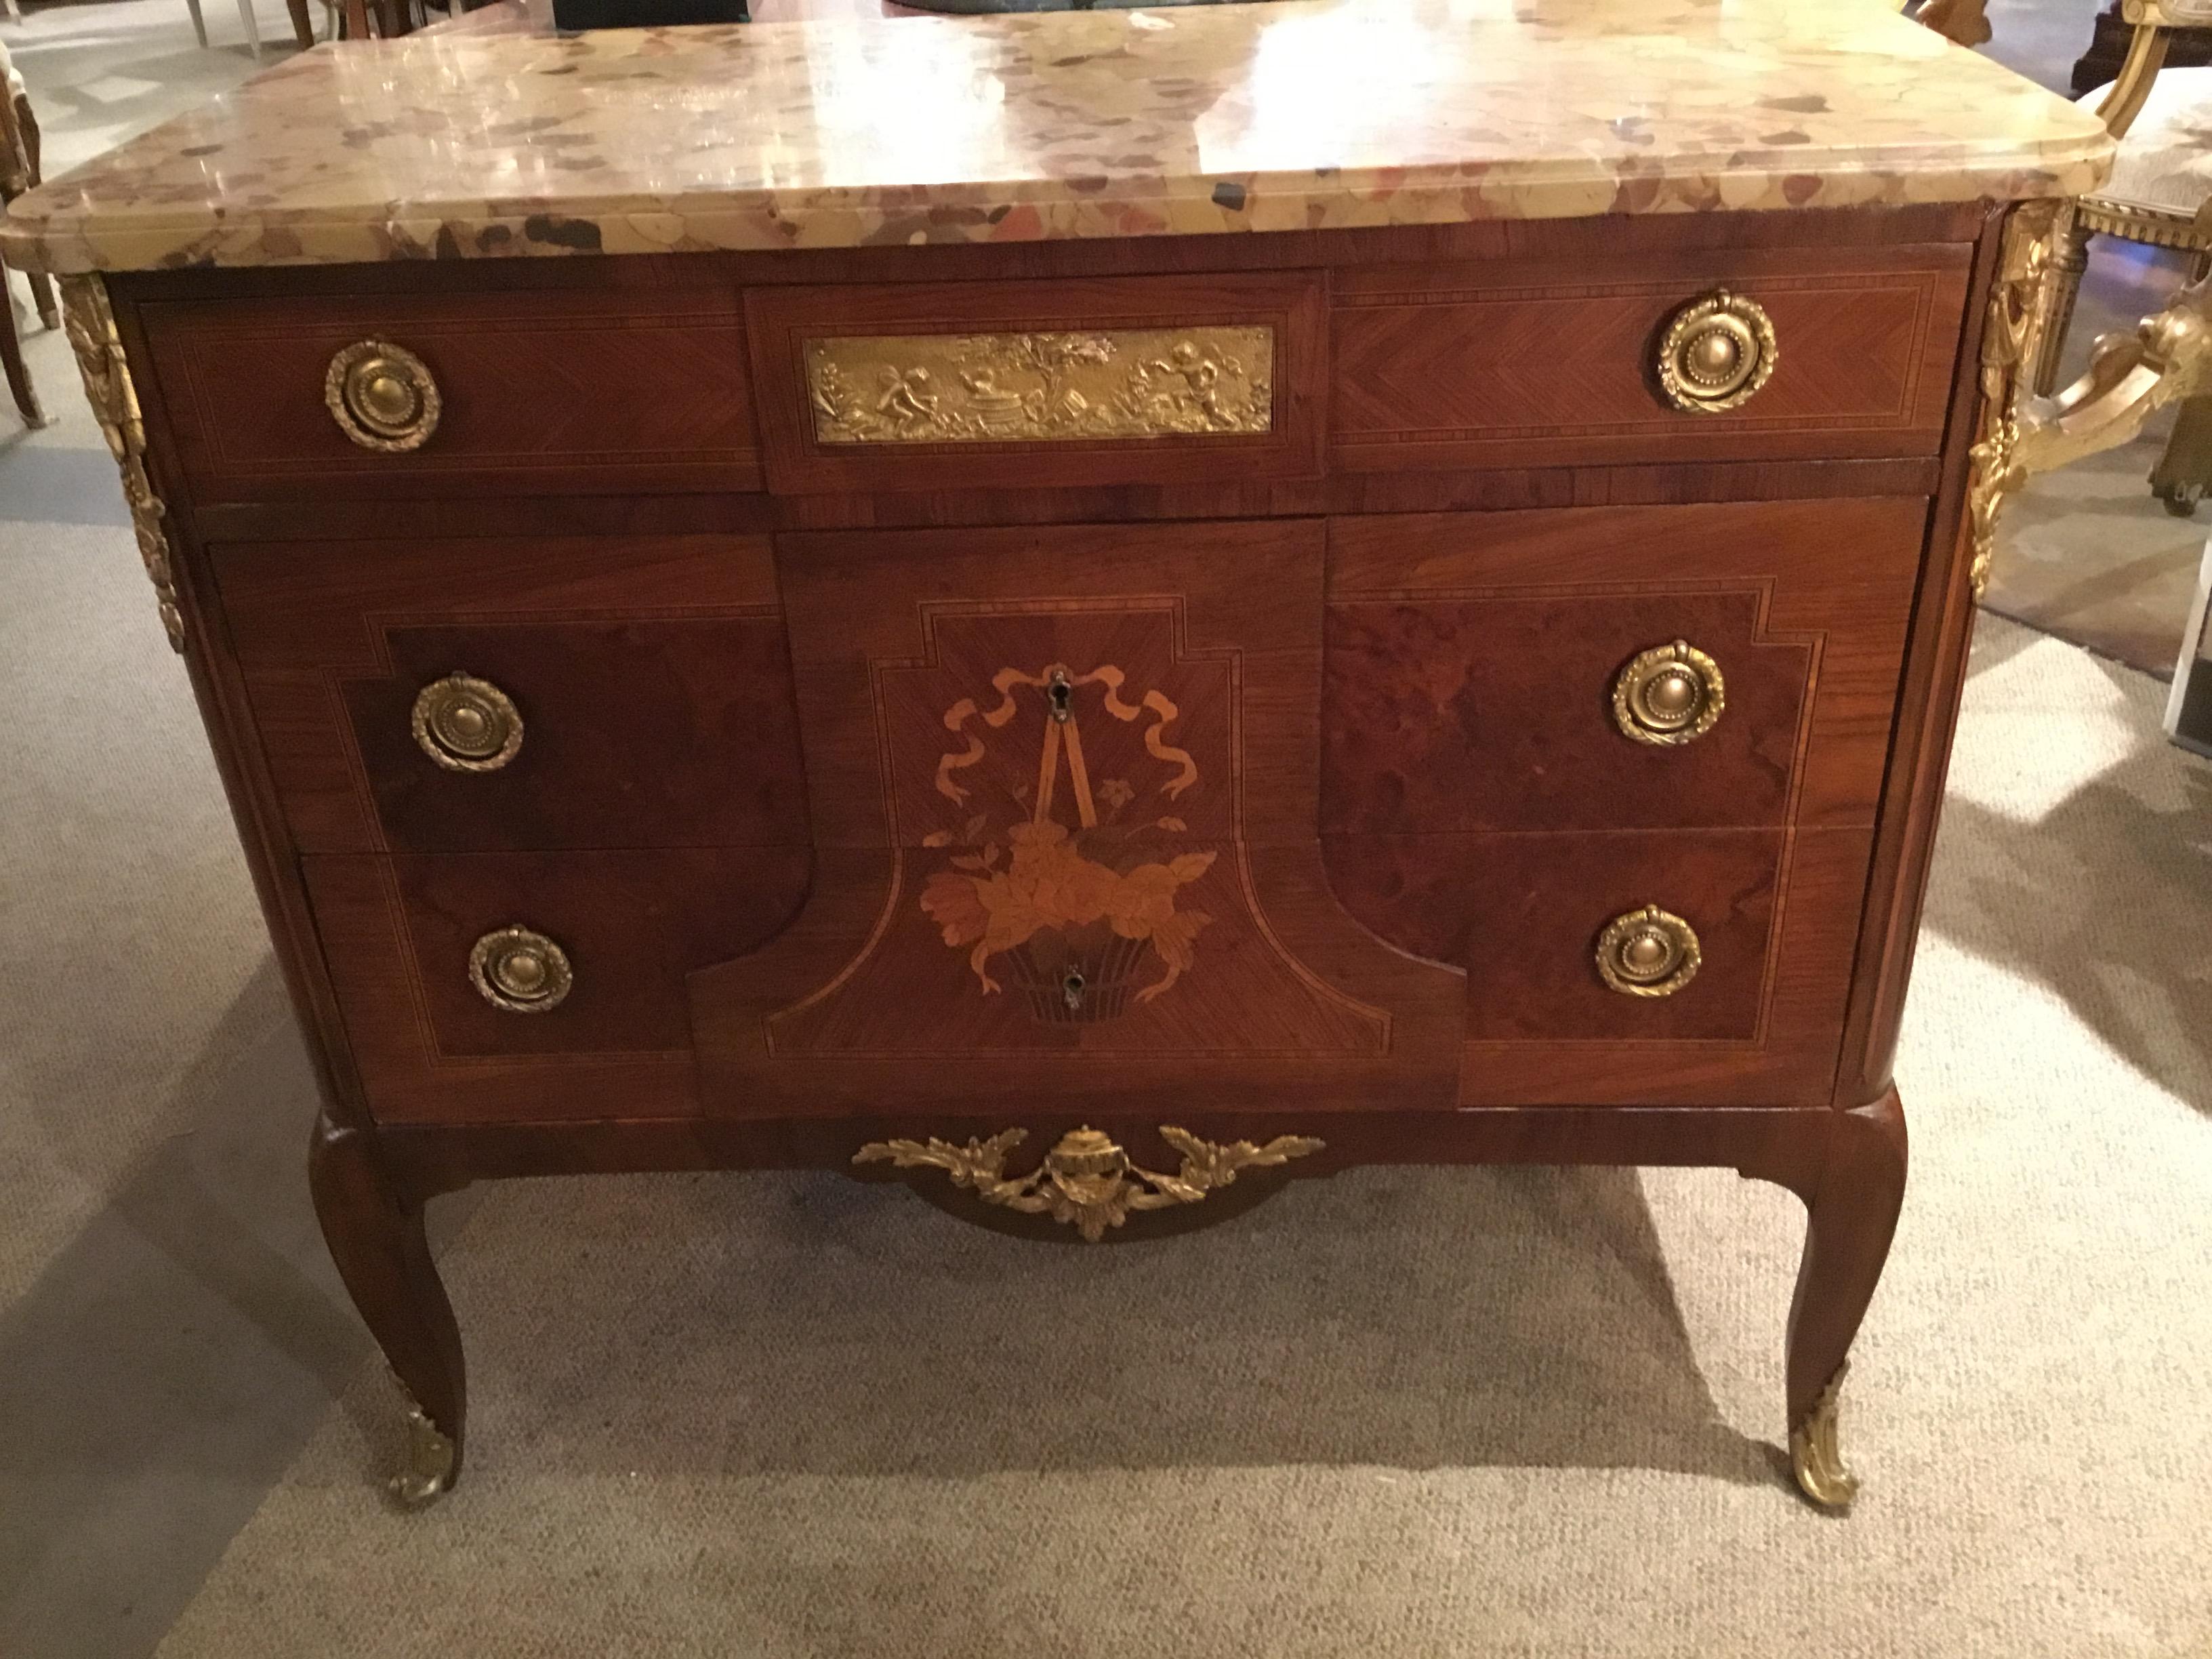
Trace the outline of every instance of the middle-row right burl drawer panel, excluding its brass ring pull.
{"label": "middle-row right burl drawer panel, excluding its brass ring pull", "polygon": [[[1325,834],[1874,821],[1924,500],[1329,522]],[[1688,639],[1703,737],[1639,743],[1613,684]]]}

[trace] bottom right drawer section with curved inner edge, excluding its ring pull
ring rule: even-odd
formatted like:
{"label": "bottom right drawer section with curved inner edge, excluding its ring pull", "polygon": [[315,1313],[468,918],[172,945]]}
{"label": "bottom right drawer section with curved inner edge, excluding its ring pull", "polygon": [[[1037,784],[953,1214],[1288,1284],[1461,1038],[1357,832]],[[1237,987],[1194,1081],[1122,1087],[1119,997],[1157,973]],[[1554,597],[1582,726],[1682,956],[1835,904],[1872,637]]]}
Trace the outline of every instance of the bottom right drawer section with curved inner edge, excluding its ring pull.
{"label": "bottom right drawer section with curved inner edge, excluding its ring pull", "polygon": [[[1336,836],[1338,900],[1467,971],[1460,1104],[1816,1106],[1871,830]],[[1657,907],[1666,918],[1628,922]],[[1599,940],[1621,920],[1613,982]],[[1661,936],[1686,922],[1694,971]],[[1648,942],[1637,947],[1637,938]],[[1639,984],[1639,975],[1650,975]]]}

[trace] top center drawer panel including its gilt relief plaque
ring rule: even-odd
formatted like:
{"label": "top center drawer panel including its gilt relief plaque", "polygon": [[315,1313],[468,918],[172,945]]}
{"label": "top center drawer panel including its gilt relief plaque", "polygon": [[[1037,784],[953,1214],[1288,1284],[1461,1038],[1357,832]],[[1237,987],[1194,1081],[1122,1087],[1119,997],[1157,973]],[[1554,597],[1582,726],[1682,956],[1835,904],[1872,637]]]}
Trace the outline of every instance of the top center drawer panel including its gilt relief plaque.
{"label": "top center drawer panel including its gilt relief plaque", "polygon": [[745,294],[776,491],[1316,478],[1321,279]]}

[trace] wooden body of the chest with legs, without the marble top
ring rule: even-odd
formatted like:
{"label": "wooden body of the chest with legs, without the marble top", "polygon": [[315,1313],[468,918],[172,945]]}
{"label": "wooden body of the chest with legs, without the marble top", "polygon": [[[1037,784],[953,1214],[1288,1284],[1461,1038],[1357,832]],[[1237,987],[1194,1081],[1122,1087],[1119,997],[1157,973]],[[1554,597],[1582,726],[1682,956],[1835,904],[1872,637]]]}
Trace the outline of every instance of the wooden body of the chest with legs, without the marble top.
{"label": "wooden body of the chest with legs, without the marble top", "polygon": [[1683,223],[108,279],[411,1491],[471,1179],[1588,1159],[1807,1199],[1845,1498],[2002,232]]}

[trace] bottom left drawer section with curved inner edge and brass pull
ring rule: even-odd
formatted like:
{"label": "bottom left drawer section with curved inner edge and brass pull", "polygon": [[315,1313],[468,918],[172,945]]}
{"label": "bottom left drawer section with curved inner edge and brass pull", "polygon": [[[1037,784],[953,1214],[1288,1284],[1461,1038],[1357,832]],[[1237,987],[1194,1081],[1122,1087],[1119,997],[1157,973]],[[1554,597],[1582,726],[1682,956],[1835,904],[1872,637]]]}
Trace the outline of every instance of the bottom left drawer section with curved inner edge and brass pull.
{"label": "bottom left drawer section with curved inner edge and brass pull", "polygon": [[684,975],[799,909],[805,847],[301,860],[369,1110],[699,1110]]}

